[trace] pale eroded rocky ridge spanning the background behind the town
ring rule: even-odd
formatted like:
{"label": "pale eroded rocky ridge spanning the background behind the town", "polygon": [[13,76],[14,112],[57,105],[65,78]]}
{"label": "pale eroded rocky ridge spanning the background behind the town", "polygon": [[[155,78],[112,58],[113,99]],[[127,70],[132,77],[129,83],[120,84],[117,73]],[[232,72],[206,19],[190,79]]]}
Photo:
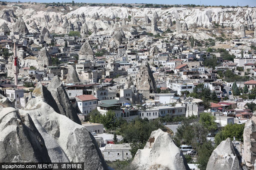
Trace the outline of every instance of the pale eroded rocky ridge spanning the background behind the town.
{"label": "pale eroded rocky ridge spanning the background behind the town", "polygon": [[[39,7],[40,6],[40,7]],[[57,10],[56,10],[57,9]],[[18,17],[22,17],[18,19]],[[154,20],[156,18],[156,20]],[[172,24],[172,22],[180,24]],[[162,33],[167,28],[178,31],[188,29],[197,39],[213,38],[212,30],[215,23],[225,26],[238,28],[241,24],[247,25],[249,29],[256,26],[255,8],[217,8],[217,7],[173,7],[173,8],[127,8],[127,7],[47,7],[44,5],[8,4],[1,6],[0,25],[6,23],[10,30],[17,30],[16,22],[19,27],[24,24],[29,32],[38,32],[42,28],[47,28],[49,32],[56,34],[68,33],[70,30],[86,32],[91,30],[97,35],[106,35],[113,29],[123,28],[127,33],[134,29],[151,31],[152,23],[157,24],[154,33]],[[127,26],[127,25],[139,25]],[[180,26],[179,26],[180,25]],[[179,27],[179,28],[177,28]],[[198,27],[209,28],[208,30],[198,30]],[[39,30],[38,30],[39,29]],[[183,30],[184,30],[183,29]],[[238,29],[239,30],[239,29]],[[239,35],[239,31],[233,32]],[[254,29],[253,29],[254,30]],[[208,32],[207,32],[208,31]],[[230,31],[230,30],[225,30]],[[196,33],[195,33],[196,32]],[[171,34],[171,35],[176,35]],[[186,38],[186,35],[179,35]]]}

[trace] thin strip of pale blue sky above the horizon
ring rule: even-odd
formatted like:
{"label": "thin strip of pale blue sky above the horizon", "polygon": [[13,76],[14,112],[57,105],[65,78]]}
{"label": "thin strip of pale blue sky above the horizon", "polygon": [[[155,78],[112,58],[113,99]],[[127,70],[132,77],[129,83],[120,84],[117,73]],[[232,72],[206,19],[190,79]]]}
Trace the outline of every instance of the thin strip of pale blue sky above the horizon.
{"label": "thin strip of pale blue sky above the horizon", "polygon": [[[6,0],[8,1],[8,0]],[[20,0],[20,2],[54,2],[54,0]],[[55,0],[56,2],[72,2],[72,0]],[[13,1],[15,2],[15,1]],[[246,6],[249,5],[251,7],[256,6],[256,0],[214,0],[214,1],[209,1],[209,0],[160,0],[160,1],[155,1],[155,0],[89,0],[89,1],[84,1],[84,0],[74,0],[74,2],[83,2],[83,3],[147,3],[147,4],[195,4],[195,5],[200,5],[205,4],[205,5],[229,5],[229,6]]]}

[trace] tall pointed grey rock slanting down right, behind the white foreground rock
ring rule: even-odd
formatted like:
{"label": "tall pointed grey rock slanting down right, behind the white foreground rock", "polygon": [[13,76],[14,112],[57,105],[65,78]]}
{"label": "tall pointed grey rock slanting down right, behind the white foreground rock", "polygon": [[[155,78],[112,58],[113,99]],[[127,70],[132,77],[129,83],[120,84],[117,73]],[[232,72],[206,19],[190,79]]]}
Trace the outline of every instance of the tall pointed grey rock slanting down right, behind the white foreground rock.
{"label": "tall pointed grey rock slanting down right, behind the white foreground rock", "polygon": [[56,101],[60,114],[67,116],[77,124],[81,124],[81,121],[79,120],[78,115],[68,98],[68,94],[58,76],[54,76],[47,89]]}

